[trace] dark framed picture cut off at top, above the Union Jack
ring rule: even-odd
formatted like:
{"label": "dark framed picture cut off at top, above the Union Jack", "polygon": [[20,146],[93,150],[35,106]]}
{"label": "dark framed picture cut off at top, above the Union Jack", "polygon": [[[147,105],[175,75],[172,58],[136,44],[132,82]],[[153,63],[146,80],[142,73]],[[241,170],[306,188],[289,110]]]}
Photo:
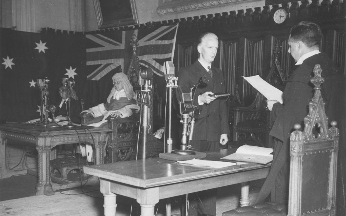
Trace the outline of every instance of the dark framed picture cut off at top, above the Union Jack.
{"label": "dark framed picture cut off at top, above the Union Jack", "polygon": [[93,0],[99,29],[138,24],[135,0]]}

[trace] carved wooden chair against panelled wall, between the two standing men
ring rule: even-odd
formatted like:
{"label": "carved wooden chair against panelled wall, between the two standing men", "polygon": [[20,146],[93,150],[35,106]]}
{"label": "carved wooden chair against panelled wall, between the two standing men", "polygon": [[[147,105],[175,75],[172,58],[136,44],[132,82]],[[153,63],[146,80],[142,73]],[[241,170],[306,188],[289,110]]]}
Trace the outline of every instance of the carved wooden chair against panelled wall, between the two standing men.
{"label": "carved wooden chair against panelled wall, between the two standing men", "polygon": [[[265,79],[276,88],[283,90],[284,79],[280,62],[277,58],[279,45],[274,49],[274,62]],[[246,99],[246,98],[245,98]],[[271,130],[270,111],[266,107],[266,98],[257,92],[255,99],[249,106],[236,107],[233,118],[233,142],[230,145],[249,144],[272,148],[273,139],[270,137]]]}

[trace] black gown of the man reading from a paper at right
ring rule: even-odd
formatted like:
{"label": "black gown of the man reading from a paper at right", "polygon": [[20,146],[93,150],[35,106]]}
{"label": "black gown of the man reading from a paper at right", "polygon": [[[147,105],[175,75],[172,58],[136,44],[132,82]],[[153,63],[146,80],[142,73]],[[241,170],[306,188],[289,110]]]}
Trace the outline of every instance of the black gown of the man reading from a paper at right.
{"label": "black gown of the man reading from a paper at right", "polygon": [[[333,120],[341,120],[342,112],[340,110],[343,106],[341,103],[345,101],[344,98],[340,98],[343,95],[344,75],[339,72],[325,53],[305,59],[301,65],[297,65],[297,69],[286,81],[282,96],[283,104],[275,103],[273,105],[271,115],[274,124],[270,135],[279,141],[274,144],[272,167],[255,203],[263,202],[270,193],[277,174],[284,166],[289,166],[290,133],[293,131],[294,124],[301,123],[302,127],[304,126],[303,119],[308,114],[308,105],[314,94],[314,86],[310,79],[314,76],[313,68],[316,64],[321,65],[321,76],[325,78],[325,82],[321,85],[321,93],[326,104],[325,111],[328,121],[330,123]],[[281,178],[280,181],[281,185],[288,185],[289,173],[286,173],[286,178]]]}

